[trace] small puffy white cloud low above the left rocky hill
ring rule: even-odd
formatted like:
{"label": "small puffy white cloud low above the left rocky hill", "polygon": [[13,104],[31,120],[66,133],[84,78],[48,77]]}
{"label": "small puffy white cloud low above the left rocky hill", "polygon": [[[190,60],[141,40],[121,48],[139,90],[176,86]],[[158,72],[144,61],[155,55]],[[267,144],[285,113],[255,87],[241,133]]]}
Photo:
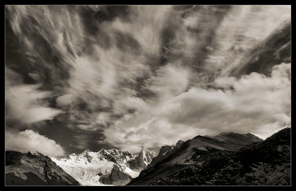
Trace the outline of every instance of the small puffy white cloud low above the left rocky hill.
{"label": "small puffy white cloud low above the left rocky hill", "polygon": [[5,133],[5,150],[23,153],[38,151],[49,157],[65,153],[64,149],[54,140],[48,139],[33,130],[7,131]]}

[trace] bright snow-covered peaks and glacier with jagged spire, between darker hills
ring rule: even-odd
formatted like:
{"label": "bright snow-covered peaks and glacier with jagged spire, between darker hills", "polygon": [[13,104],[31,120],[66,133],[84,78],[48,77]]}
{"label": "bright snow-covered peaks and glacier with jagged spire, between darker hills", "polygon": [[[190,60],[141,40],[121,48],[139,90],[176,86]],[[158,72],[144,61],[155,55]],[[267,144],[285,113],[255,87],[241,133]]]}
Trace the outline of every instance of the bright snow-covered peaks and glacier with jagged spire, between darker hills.
{"label": "bright snow-covered peaks and glacier with jagged spire, between darker hills", "polygon": [[69,160],[53,160],[82,185],[123,185],[137,177],[147,167],[147,162],[155,157],[154,153],[145,152],[144,146],[141,153],[142,158],[145,158],[145,161],[141,160],[142,163],[139,155],[117,149],[102,149],[99,152],[86,149],[78,156],[69,155]]}

